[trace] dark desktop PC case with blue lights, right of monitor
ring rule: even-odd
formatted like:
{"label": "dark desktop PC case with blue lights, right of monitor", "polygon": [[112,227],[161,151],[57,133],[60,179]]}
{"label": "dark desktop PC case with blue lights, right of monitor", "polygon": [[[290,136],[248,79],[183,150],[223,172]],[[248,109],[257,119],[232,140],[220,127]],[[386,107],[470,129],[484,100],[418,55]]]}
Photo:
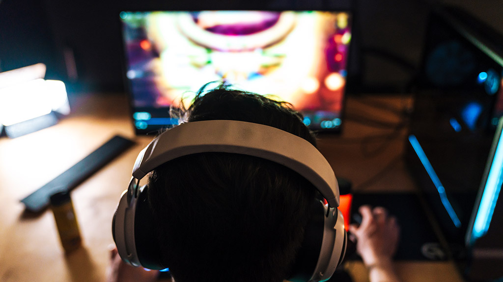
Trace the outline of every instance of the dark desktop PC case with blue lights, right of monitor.
{"label": "dark desktop PC case with blue lights, right of monitor", "polygon": [[[472,218],[479,212],[478,190],[485,183],[484,168],[503,113],[502,76],[501,35],[461,10],[432,10],[405,159],[428,212],[440,227],[447,253],[470,280],[503,276],[503,271],[493,266],[493,271],[472,267],[480,265],[473,255],[474,246],[483,243],[484,249],[501,250],[500,233],[486,234],[479,242],[467,239]],[[493,200],[495,204],[497,195]],[[492,226],[503,223],[497,212],[492,215]],[[491,236],[493,240],[488,240]],[[498,261],[501,257],[493,256],[484,263],[496,265]]]}

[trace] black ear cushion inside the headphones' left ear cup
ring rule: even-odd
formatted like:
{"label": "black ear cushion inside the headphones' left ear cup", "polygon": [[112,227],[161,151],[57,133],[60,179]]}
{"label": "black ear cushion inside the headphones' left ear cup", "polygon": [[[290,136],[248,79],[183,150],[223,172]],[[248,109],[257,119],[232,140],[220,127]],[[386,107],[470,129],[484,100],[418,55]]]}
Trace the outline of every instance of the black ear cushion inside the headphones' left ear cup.
{"label": "black ear cushion inside the headphones' left ear cup", "polygon": [[144,186],[138,195],[136,215],[134,219],[134,234],[136,253],[143,267],[148,269],[164,269],[153,214],[147,201],[148,186]]}

